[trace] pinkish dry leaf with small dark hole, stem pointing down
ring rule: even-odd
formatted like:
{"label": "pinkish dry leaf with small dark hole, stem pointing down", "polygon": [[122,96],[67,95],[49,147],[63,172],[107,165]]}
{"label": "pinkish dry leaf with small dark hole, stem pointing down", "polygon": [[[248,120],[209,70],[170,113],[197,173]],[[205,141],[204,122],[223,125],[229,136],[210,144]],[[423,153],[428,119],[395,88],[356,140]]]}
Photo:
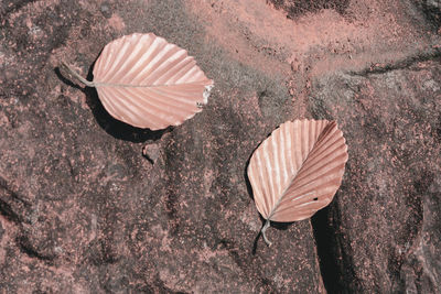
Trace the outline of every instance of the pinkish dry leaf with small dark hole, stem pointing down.
{"label": "pinkish dry leaf with small dark hole, stem pointing down", "polygon": [[347,145],[335,121],[295,120],[276,129],[252,154],[248,178],[267,222],[295,221],[327,206],[338,189]]}

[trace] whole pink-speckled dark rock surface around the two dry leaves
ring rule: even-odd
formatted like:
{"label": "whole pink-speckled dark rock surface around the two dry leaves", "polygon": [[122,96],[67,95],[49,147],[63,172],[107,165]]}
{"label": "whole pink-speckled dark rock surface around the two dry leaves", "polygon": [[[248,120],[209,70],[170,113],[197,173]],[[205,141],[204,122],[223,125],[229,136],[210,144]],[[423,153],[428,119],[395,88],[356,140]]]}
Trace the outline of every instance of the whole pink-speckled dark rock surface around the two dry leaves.
{"label": "whole pink-speckled dark rock surface around the two dry leaves", "polygon": [[[3,0],[0,293],[440,293],[437,3]],[[203,112],[131,128],[58,68],[90,79],[133,32],[195,56]],[[299,118],[337,120],[349,161],[268,248],[247,161]]]}

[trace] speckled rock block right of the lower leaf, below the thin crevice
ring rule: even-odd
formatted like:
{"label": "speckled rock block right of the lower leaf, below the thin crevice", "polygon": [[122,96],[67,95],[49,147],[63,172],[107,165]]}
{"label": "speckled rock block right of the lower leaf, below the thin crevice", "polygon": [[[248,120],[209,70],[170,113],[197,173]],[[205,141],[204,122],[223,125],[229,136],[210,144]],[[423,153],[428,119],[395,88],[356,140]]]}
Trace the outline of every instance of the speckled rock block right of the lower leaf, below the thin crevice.
{"label": "speckled rock block right of the lower leaf, below the thin crevice", "polygon": [[331,292],[441,291],[440,80],[437,57],[314,83],[311,112],[341,121],[349,150],[337,200],[315,219],[318,235],[333,231],[319,236],[324,276],[338,269]]}

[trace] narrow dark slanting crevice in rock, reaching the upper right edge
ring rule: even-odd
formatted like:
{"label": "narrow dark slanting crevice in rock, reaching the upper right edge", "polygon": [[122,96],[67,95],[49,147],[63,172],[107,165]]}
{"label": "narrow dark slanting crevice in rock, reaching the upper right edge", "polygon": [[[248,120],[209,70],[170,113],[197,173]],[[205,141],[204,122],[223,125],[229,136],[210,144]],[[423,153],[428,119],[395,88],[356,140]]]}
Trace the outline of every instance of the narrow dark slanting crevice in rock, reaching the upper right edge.
{"label": "narrow dark slanting crevice in rock, reaching the upper right edge", "polygon": [[397,61],[395,63],[374,65],[361,72],[348,72],[348,74],[353,76],[368,77],[369,75],[386,74],[392,70],[406,69],[417,63],[438,61],[440,59],[440,57],[441,57],[441,48],[435,48],[434,51],[409,56],[407,58]]}

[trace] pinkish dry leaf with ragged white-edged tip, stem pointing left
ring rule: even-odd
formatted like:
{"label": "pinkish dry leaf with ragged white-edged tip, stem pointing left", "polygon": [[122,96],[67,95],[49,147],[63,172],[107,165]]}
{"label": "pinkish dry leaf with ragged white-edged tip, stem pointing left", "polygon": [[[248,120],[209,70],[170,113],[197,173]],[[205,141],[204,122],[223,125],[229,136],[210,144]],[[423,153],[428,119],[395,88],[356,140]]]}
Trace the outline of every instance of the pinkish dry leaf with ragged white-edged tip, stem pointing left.
{"label": "pinkish dry leaf with ragged white-edged tip, stem pointing left", "polygon": [[152,33],[107,44],[94,66],[93,81],[73,74],[96,87],[112,117],[151,130],[179,126],[202,111],[213,87],[185,50]]}

